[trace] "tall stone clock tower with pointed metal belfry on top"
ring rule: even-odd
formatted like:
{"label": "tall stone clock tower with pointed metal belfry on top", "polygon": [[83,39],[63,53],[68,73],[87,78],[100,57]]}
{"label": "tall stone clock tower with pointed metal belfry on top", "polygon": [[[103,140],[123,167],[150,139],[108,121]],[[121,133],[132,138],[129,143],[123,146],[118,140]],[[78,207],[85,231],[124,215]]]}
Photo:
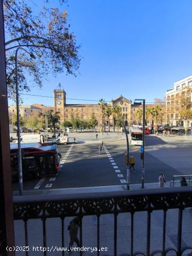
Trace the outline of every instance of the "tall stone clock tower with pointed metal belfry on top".
{"label": "tall stone clock tower with pointed metal belfry on top", "polygon": [[57,89],[53,90],[53,100],[55,112],[60,116],[60,120],[64,121],[64,109],[66,104],[66,92],[61,87],[61,84],[57,86]]}

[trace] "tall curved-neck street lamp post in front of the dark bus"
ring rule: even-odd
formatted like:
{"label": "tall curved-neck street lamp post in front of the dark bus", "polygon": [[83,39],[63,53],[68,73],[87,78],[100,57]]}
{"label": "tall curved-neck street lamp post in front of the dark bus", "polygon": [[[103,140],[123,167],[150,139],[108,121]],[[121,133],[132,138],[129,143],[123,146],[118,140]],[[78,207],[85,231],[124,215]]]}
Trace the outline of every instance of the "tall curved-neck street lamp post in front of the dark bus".
{"label": "tall curved-neck street lamp post in front of the dark bus", "polygon": [[18,127],[18,172],[19,172],[19,195],[23,195],[23,171],[22,171],[22,151],[20,147],[20,119],[19,119],[19,89],[18,89],[18,51],[22,49],[27,52],[33,59],[36,57],[22,47],[18,47],[15,52],[15,85],[16,85],[16,125]]}

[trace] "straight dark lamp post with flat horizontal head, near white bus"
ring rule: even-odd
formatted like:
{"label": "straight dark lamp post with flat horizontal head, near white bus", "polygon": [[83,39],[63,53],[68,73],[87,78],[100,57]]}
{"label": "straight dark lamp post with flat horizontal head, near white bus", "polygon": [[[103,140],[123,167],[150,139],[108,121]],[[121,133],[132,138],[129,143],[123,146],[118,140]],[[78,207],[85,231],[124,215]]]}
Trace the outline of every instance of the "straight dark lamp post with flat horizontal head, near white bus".
{"label": "straight dark lamp post with flat horizontal head, near white bus", "polygon": [[[136,102],[140,101],[140,102]],[[145,100],[135,100],[134,104],[141,105],[141,101],[143,101],[143,152],[142,154],[142,170],[141,170],[141,188],[144,188],[144,176],[145,176]]]}

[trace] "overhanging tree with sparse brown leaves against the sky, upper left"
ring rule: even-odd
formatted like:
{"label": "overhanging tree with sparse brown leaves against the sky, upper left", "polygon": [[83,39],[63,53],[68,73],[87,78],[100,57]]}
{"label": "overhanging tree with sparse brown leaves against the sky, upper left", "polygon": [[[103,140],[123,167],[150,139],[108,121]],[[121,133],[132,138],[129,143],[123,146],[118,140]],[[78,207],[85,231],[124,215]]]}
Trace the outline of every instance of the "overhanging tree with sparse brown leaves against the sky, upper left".
{"label": "overhanging tree with sparse brown leaves against the sky, upper left", "polygon": [[[48,1],[45,1],[48,2]],[[9,96],[15,95],[15,49],[25,47],[36,60],[20,51],[18,55],[18,84],[20,90],[30,91],[26,73],[39,86],[50,72],[76,75],[80,65],[79,46],[70,32],[67,12],[57,7],[42,7],[24,0],[3,0],[6,46],[7,88]]]}

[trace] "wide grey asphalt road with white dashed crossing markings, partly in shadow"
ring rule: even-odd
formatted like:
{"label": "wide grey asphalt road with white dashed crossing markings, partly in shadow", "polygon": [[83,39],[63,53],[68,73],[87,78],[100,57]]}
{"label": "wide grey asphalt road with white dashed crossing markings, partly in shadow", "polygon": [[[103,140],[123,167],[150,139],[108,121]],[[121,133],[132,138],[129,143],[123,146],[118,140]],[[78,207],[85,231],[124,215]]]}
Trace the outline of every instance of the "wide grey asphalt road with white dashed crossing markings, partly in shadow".
{"label": "wide grey asphalt road with white dashed crossing markings, partly in shadow", "polygon": [[[191,152],[190,143],[181,147],[181,143],[169,141],[156,136],[146,136],[145,147],[145,183],[158,182],[158,175],[164,172],[166,180],[172,180],[173,175],[191,174],[187,169]],[[98,141],[59,145],[62,154],[62,167],[57,176],[44,177],[24,181],[23,188],[57,189],[75,187],[95,187],[120,185],[126,183],[127,168],[124,164],[126,140],[105,142],[101,155],[98,151]],[[185,155],[186,168],[182,168],[181,155]],[[191,153],[189,153],[191,154]],[[130,156],[135,157],[136,173],[130,172],[132,184],[141,183],[140,147],[130,146]],[[12,184],[13,190],[18,190],[18,184]]]}

